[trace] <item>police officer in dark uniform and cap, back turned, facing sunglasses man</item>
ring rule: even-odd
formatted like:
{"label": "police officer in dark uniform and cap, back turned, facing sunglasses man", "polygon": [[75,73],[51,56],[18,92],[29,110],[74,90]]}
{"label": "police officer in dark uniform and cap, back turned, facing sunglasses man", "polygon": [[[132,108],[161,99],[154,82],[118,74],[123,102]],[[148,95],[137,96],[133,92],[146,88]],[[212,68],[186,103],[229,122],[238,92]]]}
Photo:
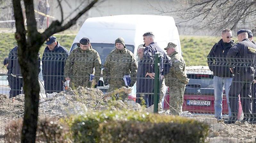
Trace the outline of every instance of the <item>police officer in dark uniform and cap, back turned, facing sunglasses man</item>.
{"label": "police officer in dark uniform and cap, back turned, facing sunglasses man", "polygon": [[239,94],[244,112],[243,121],[249,122],[252,116],[251,86],[255,75],[256,45],[248,39],[248,33],[244,29],[237,32],[237,39],[239,42],[232,46],[227,53],[227,58],[232,66],[230,70],[234,74],[229,89],[232,115],[225,121],[227,124],[235,123],[237,120]]}

